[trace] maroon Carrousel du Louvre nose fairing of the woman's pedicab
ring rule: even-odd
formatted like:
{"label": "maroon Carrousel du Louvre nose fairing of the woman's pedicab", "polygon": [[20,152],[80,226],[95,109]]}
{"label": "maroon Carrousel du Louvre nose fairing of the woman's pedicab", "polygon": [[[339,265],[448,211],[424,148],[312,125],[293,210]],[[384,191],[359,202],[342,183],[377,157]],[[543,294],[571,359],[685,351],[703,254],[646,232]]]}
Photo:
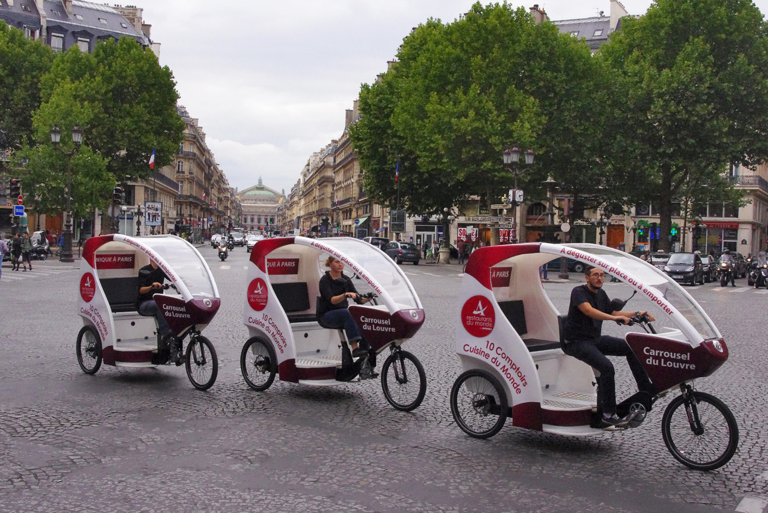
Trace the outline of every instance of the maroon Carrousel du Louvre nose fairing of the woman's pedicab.
{"label": "maroon Carrousel du Louvre nose fairing of the woman's pedicab", "polygon": [[424,310],[417,308],[390,314],[386,310],[350,305],[349,313],[362,336],[377,351],[392,340],[410,339],[424,323]]}

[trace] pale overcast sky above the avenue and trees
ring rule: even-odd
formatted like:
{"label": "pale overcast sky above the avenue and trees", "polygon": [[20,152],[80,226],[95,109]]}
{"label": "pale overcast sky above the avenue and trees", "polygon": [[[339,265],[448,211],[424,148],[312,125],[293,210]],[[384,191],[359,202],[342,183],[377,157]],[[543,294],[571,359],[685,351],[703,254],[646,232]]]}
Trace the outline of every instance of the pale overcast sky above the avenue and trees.
{"label": "pale overcast sky above the avenue and trees", "polygon": [[[490,0],[484,0],[488,4]],[[200,120],[230,186],[263,177],[286,192],[313,151],[338,138],[360,84],[386,71],[428,18],[452,22],[471,0],[153,0],[144,8],[161,65]],[[535,3],[510,2],[511,5]],[[768,0],[755,2],[766,12]],[[650,0],[623,0],[631,15]],[[610,0],[539,1],[551,20],[588,18]]]}

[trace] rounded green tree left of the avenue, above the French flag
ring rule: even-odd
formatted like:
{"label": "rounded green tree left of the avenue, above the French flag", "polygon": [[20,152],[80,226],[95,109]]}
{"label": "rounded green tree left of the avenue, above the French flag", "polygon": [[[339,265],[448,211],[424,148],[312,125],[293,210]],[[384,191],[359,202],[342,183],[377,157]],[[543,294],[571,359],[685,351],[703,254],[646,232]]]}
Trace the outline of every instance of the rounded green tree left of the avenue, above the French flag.
{"label": "rounded green tree left of the avenue, above the French flag", "polygon": [[118,182],[148,177],[153,148],[156,166],[173,161],[184,131],[179,96],[173,73],[150,49],[132,38],[101,41],[92,54],[72,47],[41,78],[42,101],[68,84],[74,84],[74,101],[90,106],[81,128]]}

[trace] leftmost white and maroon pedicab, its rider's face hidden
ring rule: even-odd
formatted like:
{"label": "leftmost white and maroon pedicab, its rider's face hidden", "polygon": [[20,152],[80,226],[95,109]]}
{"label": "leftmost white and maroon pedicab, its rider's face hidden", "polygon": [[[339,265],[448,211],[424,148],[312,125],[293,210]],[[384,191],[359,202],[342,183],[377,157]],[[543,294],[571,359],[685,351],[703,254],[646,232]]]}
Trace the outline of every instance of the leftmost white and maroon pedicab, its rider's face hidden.
{"label": "leftmost white and maroon pedicab, its rider's face hidden", "polygon": [[[83,372],[95,374],[101,363],[117,367],[155,367],[168,362],[167,341],[158,336],[157,319],[137,311],[139,272],[153,260],[168,281],[154,300],[184,344],[184,364],[192,385],[213,386],[218,359],[213,344],[200,333],[216,315],[219,291],[200,253],[172,235],[92,237],[80,264],[78,313],[83,327],[76,352]],[[184,347],[182,345],[182,347]]]}

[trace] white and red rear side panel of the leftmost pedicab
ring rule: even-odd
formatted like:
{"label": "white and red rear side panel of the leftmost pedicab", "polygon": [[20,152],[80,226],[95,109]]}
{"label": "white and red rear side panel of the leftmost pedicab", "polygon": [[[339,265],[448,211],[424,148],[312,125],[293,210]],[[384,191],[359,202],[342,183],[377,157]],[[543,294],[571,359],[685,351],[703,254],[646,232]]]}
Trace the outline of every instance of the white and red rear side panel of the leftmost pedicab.
{"label": "white and red rear side panel of the leftmost pedicab", "polygon": [[94,326],[101,338],[101,357],[104,364],[114,366],[114,322],[107,302],[107,296],[98,280],[94,253],[99,247],[111,242],[112,235],[91,237],[85,241],[80,261],[80,294],[78,314],[84,325]]}

